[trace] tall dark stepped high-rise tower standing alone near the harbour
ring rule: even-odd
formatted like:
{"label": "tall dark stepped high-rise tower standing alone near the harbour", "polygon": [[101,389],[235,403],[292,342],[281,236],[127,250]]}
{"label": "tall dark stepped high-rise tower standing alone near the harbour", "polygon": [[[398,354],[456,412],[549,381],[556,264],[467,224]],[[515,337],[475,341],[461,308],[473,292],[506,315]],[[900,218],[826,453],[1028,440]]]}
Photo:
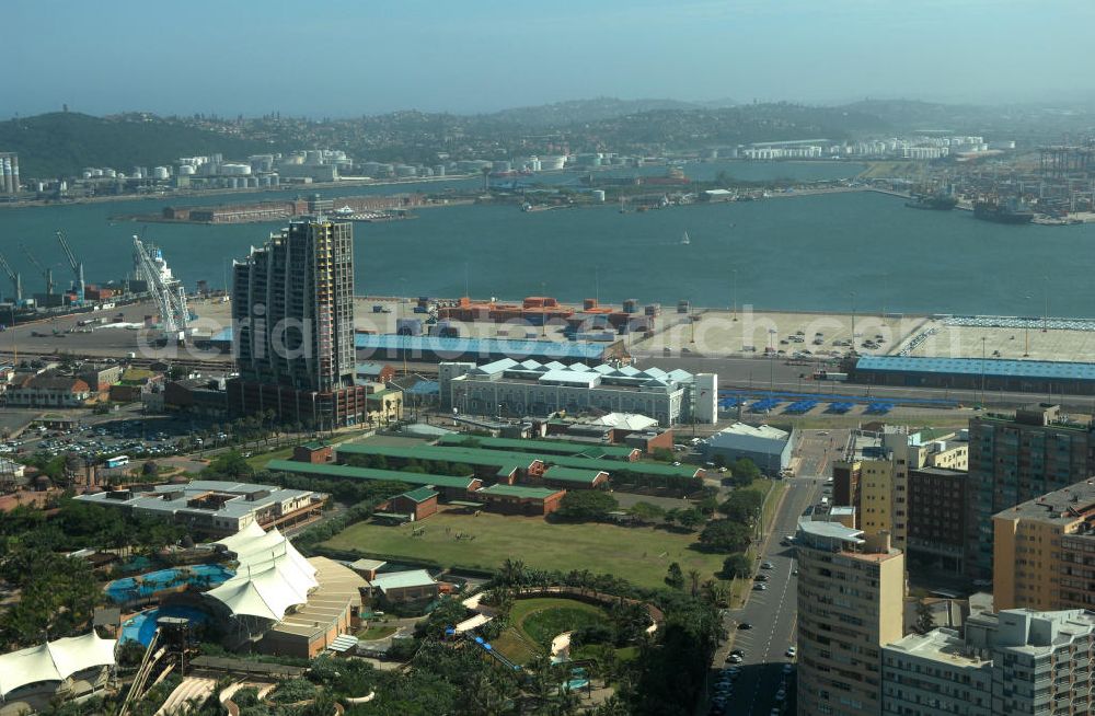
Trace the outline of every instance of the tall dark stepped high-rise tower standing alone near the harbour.
{"label": "tall dark stepped high-rise tower standing alone near the harbour", "polygon": [[355,385],[353,224],[292,221],[232,275],[231,412],[321,429],[367,420],[366,388]]}

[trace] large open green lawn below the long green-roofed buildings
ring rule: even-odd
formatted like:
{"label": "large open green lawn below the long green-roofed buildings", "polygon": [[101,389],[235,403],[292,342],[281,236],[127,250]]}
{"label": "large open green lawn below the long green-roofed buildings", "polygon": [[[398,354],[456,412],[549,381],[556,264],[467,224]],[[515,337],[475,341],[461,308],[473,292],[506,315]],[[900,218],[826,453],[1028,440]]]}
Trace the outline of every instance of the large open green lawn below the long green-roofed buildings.
{"label": "large open green lawn below the long green-roofed buildings", "polygon": [[[422,530],[411,536],[411,530]],[[456,535],[474,535],[457,540]],[[334,550],[396,561],[423,559],[447,567],[495,570],[520,559],[538,569],[588,569],[611,574],[638,587],[664,587],[669,564],[677,562],[701,580],[723,568],[725,555],[690,548],[698,533],[669,532],[653,527],[600,523],[551,523],[542,517],[512,517],[481,512],[477,517],[442,510],[422,522],[390,527],[358,522],[324,542]]]}

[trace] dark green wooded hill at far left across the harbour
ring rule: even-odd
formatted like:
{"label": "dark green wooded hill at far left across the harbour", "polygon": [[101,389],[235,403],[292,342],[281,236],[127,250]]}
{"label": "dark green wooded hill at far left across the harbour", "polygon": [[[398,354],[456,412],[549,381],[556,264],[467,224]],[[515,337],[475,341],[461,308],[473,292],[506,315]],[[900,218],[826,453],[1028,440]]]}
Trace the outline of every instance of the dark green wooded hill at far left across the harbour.
{"label": "dark green wooded hill at far left across the harbour", "polygon": [[85,166],[128,173],[134,166],[171,164],[180,157],[221,152],[226,158],[245,158],[264,150],[270,150],[266,142],[151,115],[55,112],[0,122],[0,151],[19,152],[23,178],[70,176]]}

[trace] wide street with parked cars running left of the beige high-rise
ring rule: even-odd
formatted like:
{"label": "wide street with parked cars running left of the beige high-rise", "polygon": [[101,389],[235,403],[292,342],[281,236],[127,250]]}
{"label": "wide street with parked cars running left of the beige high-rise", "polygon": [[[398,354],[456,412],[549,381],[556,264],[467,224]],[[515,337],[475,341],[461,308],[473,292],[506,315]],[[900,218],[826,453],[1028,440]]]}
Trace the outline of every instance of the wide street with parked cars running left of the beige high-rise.
{"label": "wide street with parked cars running left of the beige high-rise", "polygon": [[[728,715],[768,716],[781,706],[775,701],[775,693],[784,679],[787,679],[787,700],[794,698],[793,682],[783,669],[793,661],[785,653],[796,640],[798,580],[794,575],[794,550],[782,542],[786,535],[795,533],[798,518],[806,508],[820,498],[831,460],[846,438],[846,430],[806,430],[803,434],[799,476],[786,481],[783,505],[765,535],[758,559],[758,563],[772,565],[771,569],[758,569],[758,574],[768,576],[764,582],[768,589],[751,591],[742,609],[727,613],[727,628],[734,644],[716,653],[715,666],[722,668],[729,648],[744,651],[741,674],[734,684],[733,696],[726,702]],[[739,624],[749,624],[751,628],[738,628]],[[785,701],[782,706],[787,708],[789,704]]]}

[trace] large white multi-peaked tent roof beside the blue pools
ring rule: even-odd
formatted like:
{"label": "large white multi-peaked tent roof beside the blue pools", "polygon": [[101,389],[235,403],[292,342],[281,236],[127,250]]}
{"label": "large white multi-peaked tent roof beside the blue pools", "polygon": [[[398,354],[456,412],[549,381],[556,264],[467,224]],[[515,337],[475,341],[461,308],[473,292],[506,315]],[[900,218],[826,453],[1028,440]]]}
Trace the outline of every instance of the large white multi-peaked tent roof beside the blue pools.
{"label": "large white multi-peaked tent roof beside the blue pools", "polygon": [[235,554],[235,576],[206,592],[233,615],[280,622],[287,611],[308,603],[308,592],[319,582],[315,567],[276,529],[265,532],[252,522],[220,540]]}

